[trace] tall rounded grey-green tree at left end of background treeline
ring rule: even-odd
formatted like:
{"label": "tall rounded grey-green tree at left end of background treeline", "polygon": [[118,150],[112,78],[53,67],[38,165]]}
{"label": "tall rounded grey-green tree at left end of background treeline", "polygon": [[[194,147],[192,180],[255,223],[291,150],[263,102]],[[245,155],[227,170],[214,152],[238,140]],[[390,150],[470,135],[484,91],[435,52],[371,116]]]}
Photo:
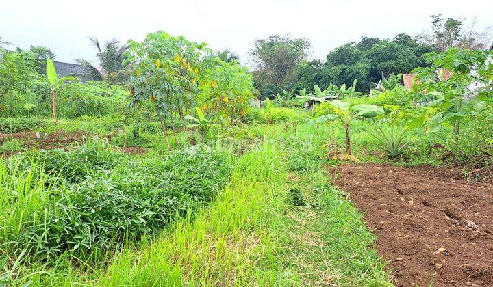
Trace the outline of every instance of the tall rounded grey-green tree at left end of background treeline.
{"label": "tall rounded grey-green tree at left end of background treeline", "polygon": [[294,83],[296,66],[305,60],[310,44],[305,38],[269,36],[253,44],[253,64],[257,73],[255,81],[262,85],[273,83],[278,87]]}

